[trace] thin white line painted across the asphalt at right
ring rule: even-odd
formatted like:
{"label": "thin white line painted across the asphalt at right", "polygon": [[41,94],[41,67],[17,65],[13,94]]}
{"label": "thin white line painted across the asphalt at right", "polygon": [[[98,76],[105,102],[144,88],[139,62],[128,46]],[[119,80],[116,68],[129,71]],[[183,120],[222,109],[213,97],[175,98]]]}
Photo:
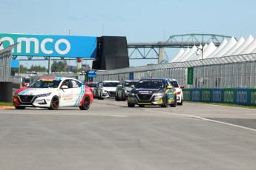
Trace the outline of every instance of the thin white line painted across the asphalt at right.
{"label": "thin white line painted across the asphalt at right", "polygon": [[[145,110],[145,111],[157,112],[157,111],[152,111],[152,110]],[[228,126],[234,126],[234,127],[237,127],[237,128],[246,129],[246,130],[256,132],[256,129],[248,128],[248,127],[245,127],[245,126],[239,126],[239,125],[235,125],[235,124],[232,124],[232,123],[226,123],[226,122],[221,122],[221,121],[217,121],[217,120],[211,120],[211,119],[208,119],[208,118],[201,118],[201,117],[198,117],[198,116],[184,115],[184,114],[177,114],[177,113],[170,113],[170,112],[159,112],[159,113],[166,113],[167,115],[180,115],[180,116],[189,117],[189,118],[196,118],[196,119],[199,119],[199,120],[206,120],[206,121],[213,122],[213,123],[220,123],[220,124],[224,124],[224,125],[228,125]]]}

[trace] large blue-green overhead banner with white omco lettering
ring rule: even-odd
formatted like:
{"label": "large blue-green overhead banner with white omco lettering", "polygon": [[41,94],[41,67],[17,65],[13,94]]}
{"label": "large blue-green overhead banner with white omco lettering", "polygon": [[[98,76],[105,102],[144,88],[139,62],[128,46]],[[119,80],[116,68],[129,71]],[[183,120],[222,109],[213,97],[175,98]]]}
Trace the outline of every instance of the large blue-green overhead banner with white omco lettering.
{"label": "large blue-green overhead banner with white omco lettering", "polygon": [[96,58],[95,36],[0,34],[2,50],[19,44],[12,55]]}

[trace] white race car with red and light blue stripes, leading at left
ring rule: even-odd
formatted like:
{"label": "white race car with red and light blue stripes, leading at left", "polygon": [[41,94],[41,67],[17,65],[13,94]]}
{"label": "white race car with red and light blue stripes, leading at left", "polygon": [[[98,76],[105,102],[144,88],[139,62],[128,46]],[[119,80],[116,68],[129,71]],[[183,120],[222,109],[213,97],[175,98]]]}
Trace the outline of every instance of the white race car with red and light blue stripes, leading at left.
{"label": "white race car with red and light blue stripes, leading at left", "polygon": [[18,89],[13,95],[16,109],[42,107],[59,109],[59,107],[77,107],[88,110],[93,103],[91,88],[75,78],[42,77],[30,86]]}

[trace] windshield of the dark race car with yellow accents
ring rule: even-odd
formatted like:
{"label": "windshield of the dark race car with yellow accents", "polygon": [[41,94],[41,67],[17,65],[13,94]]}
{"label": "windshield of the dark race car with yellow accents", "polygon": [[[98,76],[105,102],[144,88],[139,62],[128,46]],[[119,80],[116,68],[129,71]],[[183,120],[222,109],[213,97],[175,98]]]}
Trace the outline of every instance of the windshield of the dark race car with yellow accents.
{"label": "windshield of the dark race car with yellow accents", "polygon": [[139,81],[136,85],[136,88],[142,89],[161,89],[164,88],[164,82],[161,80],[150,80],[150,81]]}

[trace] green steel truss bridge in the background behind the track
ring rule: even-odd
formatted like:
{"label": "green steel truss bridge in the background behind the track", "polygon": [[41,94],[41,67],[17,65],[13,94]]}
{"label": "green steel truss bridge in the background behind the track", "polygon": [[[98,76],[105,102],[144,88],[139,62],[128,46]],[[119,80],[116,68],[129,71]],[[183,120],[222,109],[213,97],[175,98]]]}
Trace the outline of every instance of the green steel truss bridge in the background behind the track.
{"label": "green steel truss bridge in the background behind the track", "polygon": [[[128,43],[128,55],[130,59],[158,59],[158,63],[164,61],[164,48],[182,48],[205,45],[213,42],[216,47],[219,47],[224,39],[232,38],[227,35],[215,34],[183,34],[171,35],[167,41],[158,41],[152,43]],[[13,55],[13,59],[19,56]],[[94,58],[84,58],[85,60],[94,60]],[[26,59],[19,61],[45,61],[49,57],[34,57],[27,56]],[[76,60],[76,58],[51,58],[51,60]]]}

